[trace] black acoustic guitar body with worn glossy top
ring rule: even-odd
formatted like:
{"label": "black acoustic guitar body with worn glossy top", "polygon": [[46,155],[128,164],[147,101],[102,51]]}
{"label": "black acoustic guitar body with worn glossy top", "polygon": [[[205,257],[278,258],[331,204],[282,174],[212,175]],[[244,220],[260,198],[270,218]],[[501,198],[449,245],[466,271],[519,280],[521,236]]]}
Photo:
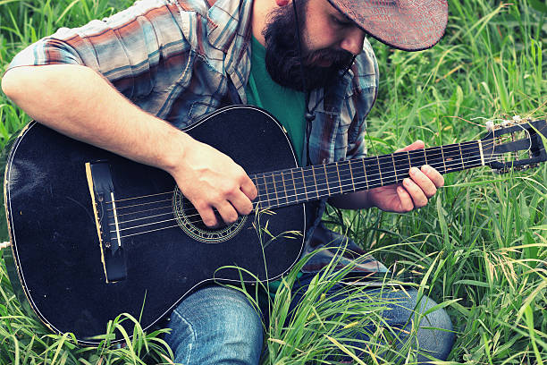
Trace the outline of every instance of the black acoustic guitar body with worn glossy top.
{"label": "black acoustic guitar body with worn glossy top", "polygon": [[[248,174],[297,166],[282,127],[257,108],[223,108],[187,132],[230,156]],[[118,251],[123,252],[125,276],[111,282],[106,280],[105,247],[97,233],[86,170],[86,163],[96,162],[109,167],[119,232],[128,233]],[[147,328],[199,284],[213,278],[239,283],[240,276],[256,281],[235,268],[219,267],[241,267],[266,280],[279,278],[299,259],[303,234],[290,238],[281,233],[305,232],[302,204],[258,218],[247,216],[238,229],[218,234],[199,224],[187,233],[173,212],[160,217],[165,222],[159,225],[136,217],[160,206],[173,210],[174,186],[164,171],[72,140],[39,123],[30,123],[21,132],[6,167],[6,213],[19,279],[46,326],[58,333],[74,333],[81,344],[97,344],[100,340],[90,337],[104,334],[107,321],[123,312],[140,318]],[[139,205],[135,197],[152,198],[143,198],[150,203]],[[136,210],[123,216],[124,208]],[[130,226],[137,222],[138,229],[123,230],[125,220]],[[271,237],[263,233],[261,245],[253,226],[257,221],[262,226],[267,222],[269,233],[282,236],[265,244]],[[215,239],[223,235],[232,236],[221,242]],[[132,326],[125,322],[124,326]]]}

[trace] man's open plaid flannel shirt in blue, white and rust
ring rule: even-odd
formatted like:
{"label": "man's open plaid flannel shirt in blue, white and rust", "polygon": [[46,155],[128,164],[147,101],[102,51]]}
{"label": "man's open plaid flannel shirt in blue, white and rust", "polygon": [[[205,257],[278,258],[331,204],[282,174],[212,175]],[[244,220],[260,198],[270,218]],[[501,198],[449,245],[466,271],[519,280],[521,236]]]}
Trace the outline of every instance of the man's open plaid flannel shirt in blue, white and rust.
{"label": "man's open plaid flannel shirt in blue, white and rust", "polygon": [[[184,128],[220,106],[246,103],[250,72],[252,0],[143,0],[102,21],[62,28],[16,55],[21,65],[83,64],[101,73],[134,104]],[[363,52],[341,81],[316,89],[310,161],[324,164],[364,157],[366,115],[374,104],[378,67],[365,40]],[[324,211],[308,231],[311,237]],[[305,253],[316,249],[307,240]],[[358,250],[357,246],[353,249]],[[308,262],[315,271],[332,259],[323,251]],[[384,271],[374,259],[365,271]]]}

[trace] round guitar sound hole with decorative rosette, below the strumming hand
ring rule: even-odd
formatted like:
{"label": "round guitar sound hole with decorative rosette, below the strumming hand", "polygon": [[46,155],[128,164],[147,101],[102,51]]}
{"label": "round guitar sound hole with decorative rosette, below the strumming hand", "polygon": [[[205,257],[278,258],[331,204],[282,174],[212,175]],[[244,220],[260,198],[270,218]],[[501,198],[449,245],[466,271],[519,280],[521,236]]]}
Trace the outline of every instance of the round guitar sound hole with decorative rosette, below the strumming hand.
{"label": "round guitar sound hole with decorative rosette, below the strumming hand", "polygon": [[[189,202],[189,199],[182,195],[178,187],[173,192],[173,212],[182,231],[193,239],[205,243],[220,243],[230,240],[240,232],[247,220],[247,216],[240,216],[230,225],[221,223],[214,228],[207,227],[201,220],[198,210]],[[219,222],[222,222],[220,216],[217,218]]]}

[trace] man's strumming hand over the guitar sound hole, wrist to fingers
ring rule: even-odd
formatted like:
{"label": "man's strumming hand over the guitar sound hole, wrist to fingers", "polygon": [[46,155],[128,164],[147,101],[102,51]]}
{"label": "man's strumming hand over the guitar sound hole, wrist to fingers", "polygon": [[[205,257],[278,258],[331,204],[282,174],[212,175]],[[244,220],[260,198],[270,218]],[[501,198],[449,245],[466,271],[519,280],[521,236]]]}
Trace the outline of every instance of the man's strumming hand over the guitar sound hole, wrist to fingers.
{"label": "man's strumming hand over the guitar sound hole, wrist to fingers", "polygon": [[181,166],[170,174],[209,227],[219,224],[213,208],[225,223],[233,223],[239,215],[253,210],[251,200],[257,198],[257,188],[248,174],[230,157],[205,143],[193,140]]}

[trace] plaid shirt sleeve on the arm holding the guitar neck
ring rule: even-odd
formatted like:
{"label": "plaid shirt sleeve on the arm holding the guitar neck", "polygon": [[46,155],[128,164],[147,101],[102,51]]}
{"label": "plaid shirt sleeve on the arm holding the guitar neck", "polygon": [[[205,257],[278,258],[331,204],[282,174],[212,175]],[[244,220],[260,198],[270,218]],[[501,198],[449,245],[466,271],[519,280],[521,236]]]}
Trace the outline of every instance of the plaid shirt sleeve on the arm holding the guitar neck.
{"label": "plaid shirt sleeve on the arm holding the guitar neck", "polygon": [[363,53],[356,59],[351,97],[346,100],[342,117],[350,118],[348,152],[346,158],[366,157],[366,116],[370,113],[378,94],[379,72],[374,51],[365,40]]}

